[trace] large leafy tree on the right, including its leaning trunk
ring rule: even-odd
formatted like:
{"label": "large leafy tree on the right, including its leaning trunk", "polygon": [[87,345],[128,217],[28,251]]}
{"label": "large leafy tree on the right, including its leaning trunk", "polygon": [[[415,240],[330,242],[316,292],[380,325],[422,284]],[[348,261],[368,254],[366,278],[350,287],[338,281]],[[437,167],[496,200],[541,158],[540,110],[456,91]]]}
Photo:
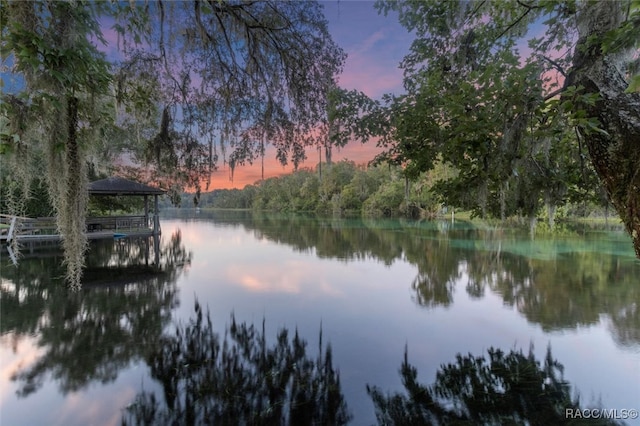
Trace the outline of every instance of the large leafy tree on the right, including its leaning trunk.
{"label": "large leafy tree on the right, including its leaning trunk", "polygon": [[[389,152],[417,171],[441,154],[460,170],[440,188],[445,197],[466,194],[481,212],[493,203],[502,214],[531,216],[539,200],[561,199],[575,184],[575,173],[558,172],[579,162],[584,146],[640,257],[640,93],[630,66],[638,58],[628,55],[640,43],[637,1],[377,7],[398,12],[416,34],[402,62],[409,95],[388,108]],[[518,43],[541,21],[545,32],[534,34],[524,55]],[[574,154],[550,161],[571,141]]]}

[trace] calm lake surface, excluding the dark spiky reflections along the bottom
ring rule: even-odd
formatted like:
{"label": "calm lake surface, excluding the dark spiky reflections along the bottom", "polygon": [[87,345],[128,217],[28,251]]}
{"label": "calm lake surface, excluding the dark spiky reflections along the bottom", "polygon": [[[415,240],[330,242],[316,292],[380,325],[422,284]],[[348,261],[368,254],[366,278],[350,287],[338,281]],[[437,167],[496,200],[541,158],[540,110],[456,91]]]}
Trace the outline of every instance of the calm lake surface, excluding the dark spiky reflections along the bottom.
{"label": "calm lake surface, excluding the dark spiky reflections along the bottom", "polygon": [[0,424],[117,425],[141,395],[184,395],[196,361],[176,357],[176,329],[199,330],[196,300],[219,342],[235,319],[265,346],[297,330],[318,364],[330,345],[355,425],[376,422],[367,385],[402,391],[405,348],[426,385],[457,354],[550,347],[582,406],[640,409],[640,264],[621,231],[182,215],[155,247],[93,244],[78,293],[59,252],[23,250],[16,268],[2,249]]}

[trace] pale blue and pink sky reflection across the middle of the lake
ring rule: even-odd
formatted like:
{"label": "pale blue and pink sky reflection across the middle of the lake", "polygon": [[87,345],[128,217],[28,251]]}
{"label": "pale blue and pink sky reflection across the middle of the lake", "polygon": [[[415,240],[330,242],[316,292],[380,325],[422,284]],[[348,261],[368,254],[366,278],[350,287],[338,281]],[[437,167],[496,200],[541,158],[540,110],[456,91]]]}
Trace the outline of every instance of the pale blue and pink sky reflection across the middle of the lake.
{"label": "pale blue and pink sky reflection across the middle of the lake", "polygon": [[[188,315],[193,293],[209,306],[214,323],[228,324],[233,311],[242,321],[266,318],[271,330],[267,335],[282,325],[313,336],[322,326],[333,346],[349,407],[359,420],[356,424],[375,421],[363,392],[367,383],[401,389],[397,369],[405,345],[424,382],[457,353],[482,353],[489,346],[526,350],[533,344],[542,359],[551,345],[585,403],[602,397],[604,406],[624,408],[633,407],[640,397],[638,385],[630,380],[640,378],[638,351],[621,352],[606,321],[545,331],[499,293],[487,289],[482,297],[470,296],[465,288],[471,278],[464,263],[452,284],[454,302],[425,309],[412,302],[416,269],[404,257],[389,265],[371,256],[336,261],[318,258],[315,249],[256,239],[255,232],[243,227],[202,222],[171,226],[181,228],[197,253],[190,290],[182,291],[180,315]],[[266,232],[259,234],[271,231]],[[194,234],[198,237],[192,240],[189,236]]]}

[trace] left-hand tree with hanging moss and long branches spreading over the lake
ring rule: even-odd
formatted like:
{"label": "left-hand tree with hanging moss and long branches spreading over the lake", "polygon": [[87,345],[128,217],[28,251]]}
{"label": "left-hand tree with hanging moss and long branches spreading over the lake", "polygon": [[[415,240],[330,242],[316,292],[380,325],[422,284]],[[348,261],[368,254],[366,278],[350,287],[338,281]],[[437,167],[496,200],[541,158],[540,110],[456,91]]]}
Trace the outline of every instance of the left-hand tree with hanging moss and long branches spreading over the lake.
{"label": "left-hand tree with hanging moss and long branches spreading over the lake", "polygon": [[[46,160],[76,285],[90,159],[102,154],[102,171],[124,152],[138,175],[173,195],[199,194],[218,151],[233,170],[269,140],[283,164],[298,165],[316,144],[314,128],[326,127],[327,94],[345,58],[316,2],[0,4],[3,65],[19,80],[2,96],[0,153],[25,182],[25,198],[27,166]],[[118,63],[96,46],[106,44],[104,22],[120,37]],[[116,152],[104,145],[114,135]]]}

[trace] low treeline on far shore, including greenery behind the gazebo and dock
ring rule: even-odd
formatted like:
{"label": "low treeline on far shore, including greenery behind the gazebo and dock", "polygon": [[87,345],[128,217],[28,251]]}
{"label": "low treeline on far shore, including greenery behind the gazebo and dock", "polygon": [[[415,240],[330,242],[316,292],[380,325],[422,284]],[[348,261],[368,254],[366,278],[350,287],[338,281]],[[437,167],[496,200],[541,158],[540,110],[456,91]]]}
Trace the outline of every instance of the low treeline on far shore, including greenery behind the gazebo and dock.
{"label": "low treeline on far shore, including greenery behind the gazebo and dock", "polygon": [[[194,194],[183,193],[183,207],[197,206],[218,209],[251,209],[276,212],[310,212],[321,215],[362,215],[367,217],[420,217],[434,218],[449,214],[452,209],[468,211],[468,205],[449,205],[438,191],[439,182],[454,179],[457,171],[439,164],[433,170],[422,173],[417,179],[406,179],[399,166],[387,164],[366,166],[342,160],[322,164],[321,169],[305,168],[280,177],[272,177],[243,189],[216,189]],[[98,177],[92,176],[92,179]],[[0,186],[0,212],[10,210],[8,204],[20,196],[20,189],[3,180]],[[14,196],[9,196],[13,191]],[[31,217],[53,215],[53,206],[42,181],[34,179],[32,194],[23,208],[23,214]],[[197,201],[196,201],[197,200]],[[89,200],[90,215],[108,215],[114,212],[134,213],[142,211],[142,200],[137,197],[92,197]],[[173,207],[175,199],[164,197],[161,209]],[[556,218],[603,217],[615,215],[615,210],[598,187],[590,190],[573,188],[568,196],[557,204],[544,203],[536,212],[539,219],[553,225]],[[495,215],[488,214],[488,217]]]}

